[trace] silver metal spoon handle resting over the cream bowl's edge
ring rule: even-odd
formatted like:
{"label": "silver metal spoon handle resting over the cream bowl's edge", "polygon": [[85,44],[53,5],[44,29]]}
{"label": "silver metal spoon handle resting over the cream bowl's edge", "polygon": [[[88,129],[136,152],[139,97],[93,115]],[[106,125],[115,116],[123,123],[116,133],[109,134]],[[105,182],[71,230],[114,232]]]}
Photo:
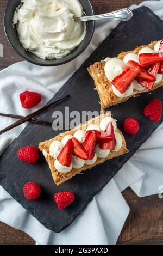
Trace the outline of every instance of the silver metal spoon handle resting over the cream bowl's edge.
{"label": "silver metal spoon handle resting over the cream bowl's edge", "polygon": [[92,20],[118,20],[118,21],[129,21],[133,17],[133,12],[124,8],[121,10],[112,11],[111,13],[83,16],[74,18],[75,21],[92,21]]}

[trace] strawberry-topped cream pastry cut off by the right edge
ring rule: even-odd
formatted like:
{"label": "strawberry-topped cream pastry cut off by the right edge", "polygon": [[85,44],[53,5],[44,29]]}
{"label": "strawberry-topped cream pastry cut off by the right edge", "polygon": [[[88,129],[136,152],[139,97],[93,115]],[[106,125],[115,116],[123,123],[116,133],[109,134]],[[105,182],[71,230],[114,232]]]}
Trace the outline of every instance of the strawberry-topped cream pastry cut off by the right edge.
{"label": "strawberry-topped cream pastry cut off by the right edge", "polygon": [[95,81],[102,109],[155,90],[163,83],[163,40],[106,58],[87,70]]}

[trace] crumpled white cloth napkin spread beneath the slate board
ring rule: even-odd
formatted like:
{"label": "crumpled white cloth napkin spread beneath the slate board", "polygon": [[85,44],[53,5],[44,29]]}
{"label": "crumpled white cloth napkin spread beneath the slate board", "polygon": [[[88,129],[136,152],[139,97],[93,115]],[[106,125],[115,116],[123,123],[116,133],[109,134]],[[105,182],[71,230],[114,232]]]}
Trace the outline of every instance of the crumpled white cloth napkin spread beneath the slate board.
{"label": "crumpled white cloth napkin spread beneath the slate board", "polygon": [[[145,1],[146,5],[163,19],[163,0]],[[137,8],[132,5],[131,9]],[[98,22],[95,35],[86,51],[71,63],[61,68],[45,68],[20,62],[0,72],[1,112],[27,115],[40,108],[52,98],[75,70],[90,56],[100,42],[117,26],[118,22]],[[33,90],[43,95],[40,105],[32,110],[21,107],[18,95],[24,90]],[[2,118],[0,129],[14,120]],[[0,153],[16,138],[26,124],[0,136]],[[129,207],[121,191],[130,186],[137,196],[159,193],[163,185],[163,124],[141,146],[103,190],[89,203],[84,212],[64,231],[56,234],[43,227],[27,210],[16,202],[0,186],[0,220],[25,231],[36,245],[115,245]],[[11,210],[12,209],[12,210]]]}

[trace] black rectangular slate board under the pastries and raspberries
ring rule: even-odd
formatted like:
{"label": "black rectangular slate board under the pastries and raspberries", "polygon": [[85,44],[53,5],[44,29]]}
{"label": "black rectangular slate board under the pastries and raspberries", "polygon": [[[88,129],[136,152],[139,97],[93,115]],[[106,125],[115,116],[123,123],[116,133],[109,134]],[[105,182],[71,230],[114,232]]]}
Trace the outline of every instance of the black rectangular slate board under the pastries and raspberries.
{"label": "black rectangular slate board under the pastries and raspberries", "polygon": [[[93,81],[86,70],[87,66],[90,63],[101,60],[102,57],[115,57],[121,51],[133,50],[137,45],[148,44],[153,40],[162,38],[163,21],[146,7],[134,10],[133,19],[129,22],[121,22],[112,31],[108,38],[102,42],[97,50],[54,96],[52,101],[67,94],[70,94],[71,98],[60,103],[57,107],[49,109],[39,118],[52,121],[54,110],[64,112],[65,106],[69,106],[70,111],[76,110],[80,113],[82,111],[100,111],[99,98],[97,92],[93,90]],[[130,159],[141,144],[158,127],[160,123],[151,123],[142,114],[143,107],[154,98],[158,98],[163,102],[162,88],[152,94],[143,94],[136,99],[130,99],[126,103],[110,108],[114,118],[118,120],[118,127],[122,131],[123,120],[126,117],[134,115],[140,121],[140,132],[133,137],[126,135],[129,154],[106,161],[101,166],[87,170],[83,175],[77,175],[59,187],[54,185],[51,172],[41,154],[40,161],[34,166],[17,159],[18,148],[28,144],[38,145],[40,141],[52,138],[59,133],[54,132],[51,127],[29,124],[1,156],[0,184],[46,228],[57,233],[64,230],[79,216],[93,197],[102,190],[123,164]],[[42,187],[42,196],[35,202],[29,202],[23,197],[22,187],[28,181],[35,181]],[[70,207],[60,211],[53,203],[53,194],[67,190],[76,194],[76,200]]]}

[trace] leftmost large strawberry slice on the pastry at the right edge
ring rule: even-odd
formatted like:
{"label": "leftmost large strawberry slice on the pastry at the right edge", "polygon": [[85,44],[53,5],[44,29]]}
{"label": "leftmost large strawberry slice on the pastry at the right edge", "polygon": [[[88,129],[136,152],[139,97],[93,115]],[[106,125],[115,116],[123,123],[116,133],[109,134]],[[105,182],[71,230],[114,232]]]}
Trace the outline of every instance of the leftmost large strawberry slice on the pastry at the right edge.
{"label": "leftmost large strawberry slice on the pastry at the right edge", "polygon": [[112,84],[116,87],[116,89],[120,93],[125,93],[129,88],[131,82],[133,82],[134,78],[138,75],[139,68],[134,67],[124,71],[121,75],[114,78]]}

